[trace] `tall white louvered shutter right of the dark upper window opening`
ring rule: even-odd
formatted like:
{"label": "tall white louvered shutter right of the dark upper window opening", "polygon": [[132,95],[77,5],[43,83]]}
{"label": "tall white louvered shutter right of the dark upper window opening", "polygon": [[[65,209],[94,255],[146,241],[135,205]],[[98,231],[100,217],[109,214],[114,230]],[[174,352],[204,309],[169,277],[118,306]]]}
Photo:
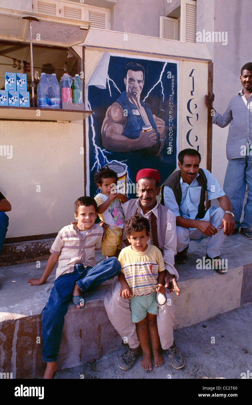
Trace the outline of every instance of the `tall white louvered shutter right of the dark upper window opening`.
{"label": "tall white louvered shutter right of the dark upper window opening", "polygon": [[196,42],[197,3],[193,0],[181,0],[181,35],[184,42]]}

